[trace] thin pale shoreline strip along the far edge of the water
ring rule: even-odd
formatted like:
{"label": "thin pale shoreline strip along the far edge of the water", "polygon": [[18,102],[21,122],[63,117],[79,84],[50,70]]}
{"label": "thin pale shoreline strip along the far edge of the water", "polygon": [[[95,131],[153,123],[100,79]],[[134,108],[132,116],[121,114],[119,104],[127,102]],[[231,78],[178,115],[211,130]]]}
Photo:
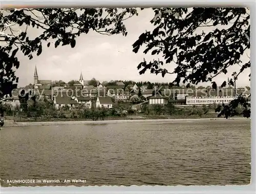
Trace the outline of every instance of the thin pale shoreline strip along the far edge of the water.
{"label": "thin pale shoreline strip along the far edge of the water", "polygon": [[251,120],[245,117],[233,118],[195,118],[195,119],[131,119],[131,120],[98,120],[98,121],[42,121],[42,122],[14,122],[6,120],[2,128],[14,126],[51,126],[51,125],[72,125],[72,124],[108,124],[108,123],[131,123],[131,122],[180,122],[180,121],[212,121],[212,120]]}

